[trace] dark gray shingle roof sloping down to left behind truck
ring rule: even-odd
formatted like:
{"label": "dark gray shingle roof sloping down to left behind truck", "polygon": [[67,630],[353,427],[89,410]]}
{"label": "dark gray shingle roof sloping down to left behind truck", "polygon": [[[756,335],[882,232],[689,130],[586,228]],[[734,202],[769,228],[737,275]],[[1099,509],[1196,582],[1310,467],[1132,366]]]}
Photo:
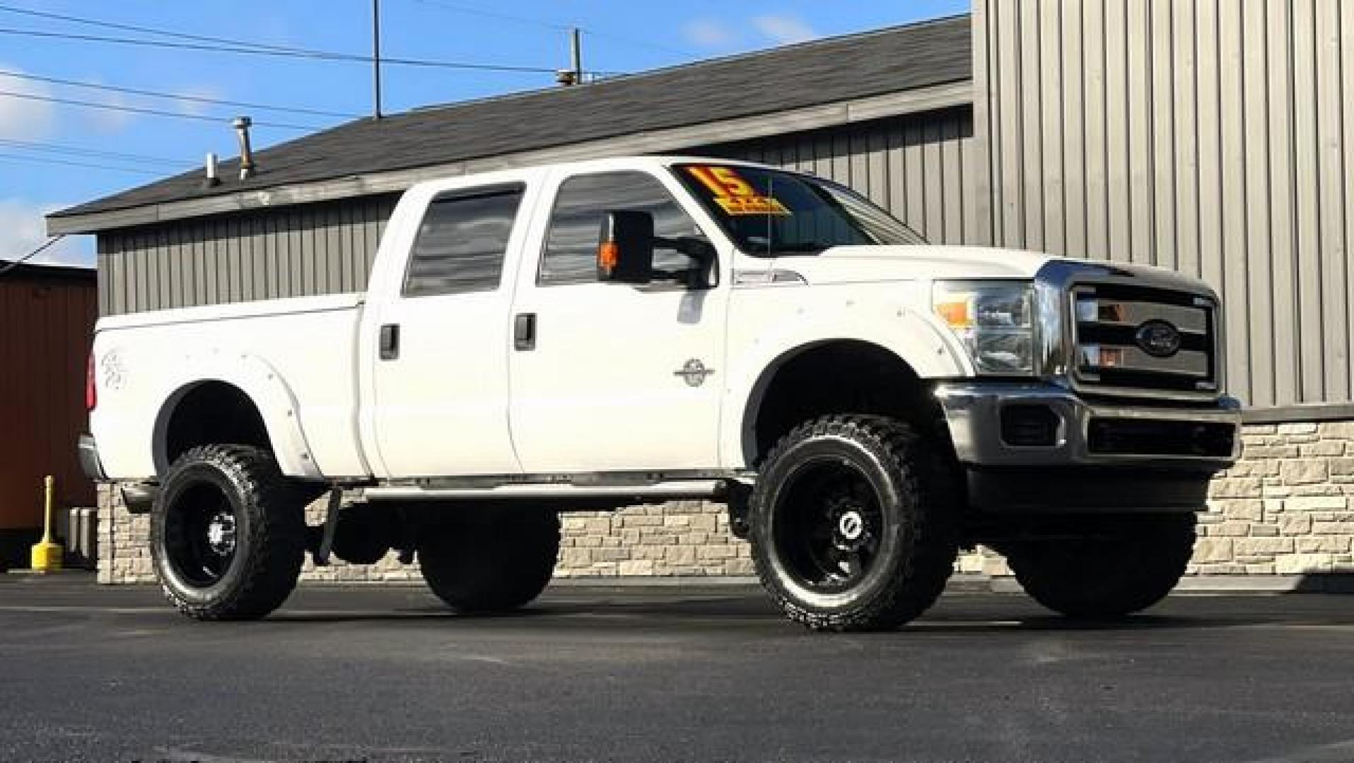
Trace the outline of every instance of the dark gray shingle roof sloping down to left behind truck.
{"label": "dark gray shingle roof sloping down to left behind truck", "polygon": [[428,166],[963,81],[972,76],[969,49],[969,18],[955,16],[585,87],[359,119],[257,152],[259,170],[245,181],[230,160],[222,162],[222,183],[214,188],[203,185],[199,169],[50,216]]}

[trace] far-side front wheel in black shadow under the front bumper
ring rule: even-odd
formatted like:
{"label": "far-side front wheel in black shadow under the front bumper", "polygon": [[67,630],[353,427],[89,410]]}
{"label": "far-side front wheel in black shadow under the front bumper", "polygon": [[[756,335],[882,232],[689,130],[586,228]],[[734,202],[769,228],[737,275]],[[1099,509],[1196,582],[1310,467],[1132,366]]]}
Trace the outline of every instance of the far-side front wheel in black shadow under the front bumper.
{"label": "far-side front wheel in black shadow under the front bumper", "polygon": [[1067,617],[1112,620],[1152,606],[1175,587],[1194,551],[1194,514],[1090,522],[1085,538],[1001,549],[1025,593]]}

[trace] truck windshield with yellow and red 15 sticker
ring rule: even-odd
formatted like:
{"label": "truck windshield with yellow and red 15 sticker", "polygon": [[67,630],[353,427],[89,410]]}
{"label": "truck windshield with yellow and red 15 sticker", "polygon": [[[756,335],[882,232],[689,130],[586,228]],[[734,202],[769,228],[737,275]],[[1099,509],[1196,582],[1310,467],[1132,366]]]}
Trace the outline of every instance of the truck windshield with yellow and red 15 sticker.
{"label": "truck windshield with yellow and red 15 sticker", "polygon": [[818,254],[833,246],[926,244],[835,183],[760,166],[682,164],[673,172],[743,252]]}

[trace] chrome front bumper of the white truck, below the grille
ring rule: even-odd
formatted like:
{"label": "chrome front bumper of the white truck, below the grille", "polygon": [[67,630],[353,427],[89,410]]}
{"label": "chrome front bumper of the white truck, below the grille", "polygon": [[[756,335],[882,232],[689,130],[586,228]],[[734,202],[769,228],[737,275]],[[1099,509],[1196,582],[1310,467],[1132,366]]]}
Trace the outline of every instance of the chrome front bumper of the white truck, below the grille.
{"label": "chrome front bumper of the white truck, below the grille", "polygon": [[[1221,398],[1216,403],[1151,406],[1145,403],[1089,402],[1049,383],[953,382],[936,386],[951,438],[960,463],[987,467],[1141,467],[1166,471],[1216,472],[1240,456],[1240,403]],[[1007,440],[1003,411],[1010,406],[1043,407],[1056,417],[1056,433],[1044,445],[1016,445]],[[1029,410],[1029,409],[1026,409]],[[1135,426],[1137,425],[1137,426]],[[1192,427],[1190,425],[1201,425]],[[1196,436],[1208,427],[1216,437],[1231,427],[1229,452],[1196,449],[1189,442],[1133,442],[1124,438],[1106,448],[1093,436],[1093,426],[1136,429],[1160,426]],[[1137,436],[1137,440],[1143,440]],[[1124,445],[1129,442],[1129,445]],[[1216,440],[1210,440],[1216,445]],[[1201,452],[1202,450],[1202,452]]]}

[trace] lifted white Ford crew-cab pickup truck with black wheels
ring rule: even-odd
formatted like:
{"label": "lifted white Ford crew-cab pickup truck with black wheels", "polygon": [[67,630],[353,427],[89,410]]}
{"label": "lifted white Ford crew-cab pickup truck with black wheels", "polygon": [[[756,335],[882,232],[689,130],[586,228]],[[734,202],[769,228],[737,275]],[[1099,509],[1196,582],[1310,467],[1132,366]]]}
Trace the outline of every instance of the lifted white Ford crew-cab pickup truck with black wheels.
{"label": "lifted white Ford crew-cab pickup truck with black wheels", "polygon": [[364,294],[102,319],[80,448],[202,620],[269,613],[307,552],[517,607],[561,511],[670,499],[727,503],[811,628],[909,621],[976,544],[1117,617],[1178,582],[1236,459],[1221,326],[1198,280],[932,246],[795,172],[513,169],[410,188]]}

